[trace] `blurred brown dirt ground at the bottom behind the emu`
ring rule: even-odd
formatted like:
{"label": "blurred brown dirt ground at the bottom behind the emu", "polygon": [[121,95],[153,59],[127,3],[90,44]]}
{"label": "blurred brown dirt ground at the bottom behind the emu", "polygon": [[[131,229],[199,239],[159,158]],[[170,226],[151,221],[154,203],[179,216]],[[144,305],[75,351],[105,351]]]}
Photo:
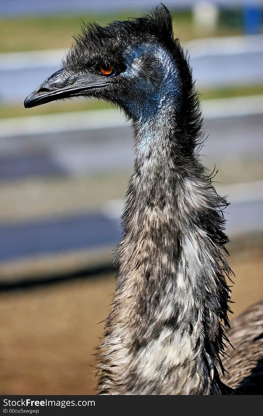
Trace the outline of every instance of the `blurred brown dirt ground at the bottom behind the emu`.
{"label": "blurred brown dirt ground at the bottom behind the emu", "polygon": [[[233,311],[263,297],[262,252],[230,258]],[[108,312],[113,275],[7,292],[0,302],[0,394],[94,394],[98,324]]]}

